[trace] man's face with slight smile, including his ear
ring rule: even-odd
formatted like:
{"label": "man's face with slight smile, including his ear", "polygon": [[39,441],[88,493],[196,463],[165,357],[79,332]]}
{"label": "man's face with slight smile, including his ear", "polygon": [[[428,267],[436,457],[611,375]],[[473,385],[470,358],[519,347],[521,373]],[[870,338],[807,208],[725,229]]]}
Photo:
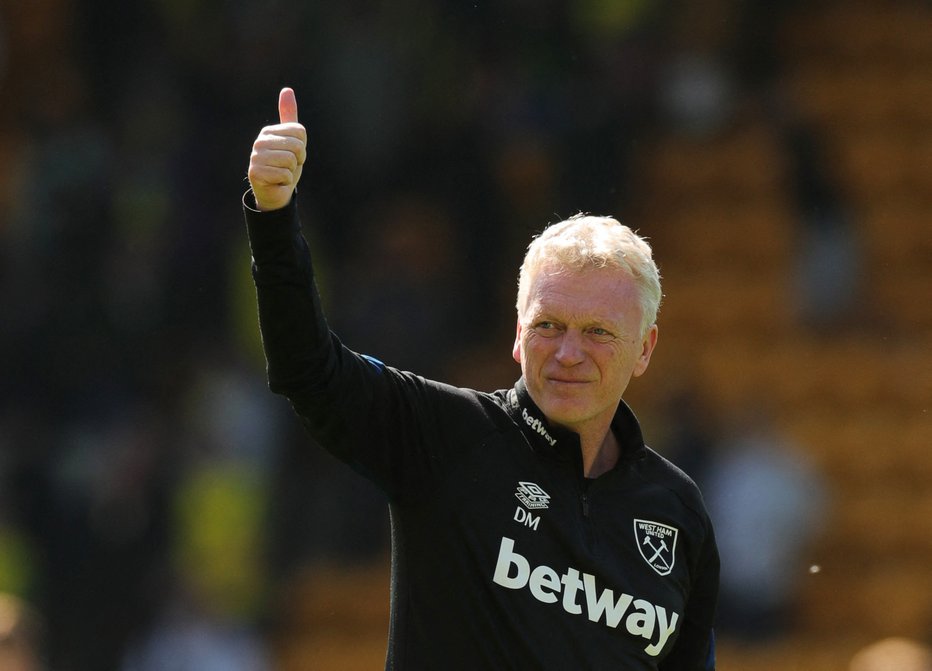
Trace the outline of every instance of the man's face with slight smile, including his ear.
{"label": "man's face with slight smile, including his ear", "polygon": [[532,278],[515,361],[551,422],[577,433],[607,427],[631,377],[647,370],[657,327],[641,335],[637,288],[625,271],[552,270]]}

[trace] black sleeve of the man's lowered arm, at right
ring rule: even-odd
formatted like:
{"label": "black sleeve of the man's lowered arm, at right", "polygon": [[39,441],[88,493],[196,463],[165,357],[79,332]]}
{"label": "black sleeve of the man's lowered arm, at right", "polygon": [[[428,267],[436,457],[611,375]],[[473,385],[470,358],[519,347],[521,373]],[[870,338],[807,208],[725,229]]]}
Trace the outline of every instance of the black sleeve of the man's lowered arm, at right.
{"label": "black sleeve of the man's lowered arm, at right", "polygon": [[659,671],[715,671],[715,609],[718,600],[719,555],[712,524],[706,534],[686,603],[683,631]]}

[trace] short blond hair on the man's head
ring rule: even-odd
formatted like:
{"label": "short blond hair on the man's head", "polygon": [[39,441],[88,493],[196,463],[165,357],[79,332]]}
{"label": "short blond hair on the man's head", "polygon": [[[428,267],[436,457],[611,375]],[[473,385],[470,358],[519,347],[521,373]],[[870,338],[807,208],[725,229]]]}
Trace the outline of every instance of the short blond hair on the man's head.
{"label": "short blond hair on the man's head", "polygon": [[663,294],[660,270],[647,241],[611,217],[577,214],[548,226],[528,245],[518,274],[518,317],[527,308],[531,282],[545,266],[580,271],[618,268],[627,272],[638,289],[641,335],[657,321]]}

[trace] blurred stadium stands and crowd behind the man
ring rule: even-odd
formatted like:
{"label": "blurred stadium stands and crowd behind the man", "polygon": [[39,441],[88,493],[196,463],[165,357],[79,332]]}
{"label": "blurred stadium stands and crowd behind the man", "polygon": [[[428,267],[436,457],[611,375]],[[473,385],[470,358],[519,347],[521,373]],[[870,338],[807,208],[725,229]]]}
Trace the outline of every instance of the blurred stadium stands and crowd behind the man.
{"label": "blurred stadium stands and crowd behind the man", "polygon": [[354,349],[510,386],[530,237],[651,239],[628,400],[706,492],[720,668],[928,640],[932,4],[2,0],[0,668],[383,664],[385,505],[265,386],[240,198],[284,85]]}

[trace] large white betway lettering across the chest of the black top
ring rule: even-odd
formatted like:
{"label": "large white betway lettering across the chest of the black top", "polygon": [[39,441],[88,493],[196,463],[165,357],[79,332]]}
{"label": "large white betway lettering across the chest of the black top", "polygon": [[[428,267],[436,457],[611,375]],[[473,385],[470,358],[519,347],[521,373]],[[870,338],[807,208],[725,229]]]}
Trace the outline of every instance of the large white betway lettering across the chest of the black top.
{"label": "large white betway lettering across the chest of the black top", "polygon": [[[652,641],[656,634],[656,641],[644,648],[644,652],[652,657],[663,650],[676,631],[679,620],[678,613],[671,612],[668,615],[663,606],[635,599],[630,594],[622,592],[616,599],[610,589],[599,592],[595,576],[589,573],[568,568],[566,573],[559,575],[549,566],[538,566],[532,571],[528,560],[515,552],[515,542],[507,536],[502,537],[492,581],[508,589],[527,587],[534,598],[542,603],[561,601],[563,610],[571,615],[582,615],[585,605],[585,614],[592,622],[604,618],[606,626],[613,629],[621,625],[624,619],[624,627],[632,636]],[[580,604],[580,592],[585,597],[583,604]]]}

